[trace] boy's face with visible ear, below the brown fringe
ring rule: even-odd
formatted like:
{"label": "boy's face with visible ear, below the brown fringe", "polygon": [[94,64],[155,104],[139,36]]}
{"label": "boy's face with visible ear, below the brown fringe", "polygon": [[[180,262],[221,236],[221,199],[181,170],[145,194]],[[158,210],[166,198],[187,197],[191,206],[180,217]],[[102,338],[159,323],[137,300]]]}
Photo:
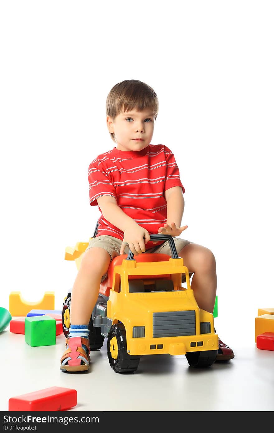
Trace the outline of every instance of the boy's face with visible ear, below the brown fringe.
{"label": "boy's face with visible ear, below the brown fringe", "polygon": [[150,144],[155,119],[151,110],[130,110],[119,113],[114,120],[106,116],[106,123],[108,130],[114,132],[116,149],[137,152]]}

